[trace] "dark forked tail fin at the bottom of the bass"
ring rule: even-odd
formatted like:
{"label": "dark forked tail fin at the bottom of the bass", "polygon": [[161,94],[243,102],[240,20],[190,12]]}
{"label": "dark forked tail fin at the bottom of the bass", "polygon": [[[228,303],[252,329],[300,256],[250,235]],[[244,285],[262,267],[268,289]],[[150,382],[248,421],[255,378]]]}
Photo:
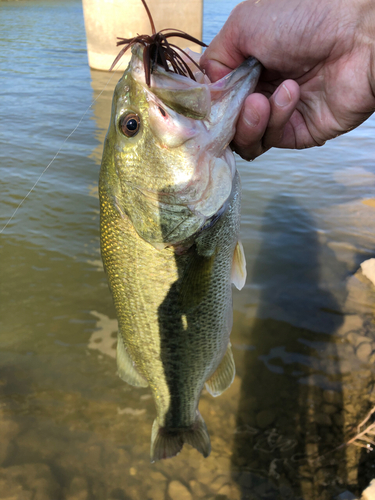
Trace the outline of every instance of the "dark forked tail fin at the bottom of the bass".
{"label": "dark forked tail fin at the bottom of the bass", "polygon": [[180,453],[184,443],[189,443],[206,458],[211,453],[211,441],[206,424],[198,412],[190,428],[168,429],[155,419],[151,433],[151,462],[171,458]]}

